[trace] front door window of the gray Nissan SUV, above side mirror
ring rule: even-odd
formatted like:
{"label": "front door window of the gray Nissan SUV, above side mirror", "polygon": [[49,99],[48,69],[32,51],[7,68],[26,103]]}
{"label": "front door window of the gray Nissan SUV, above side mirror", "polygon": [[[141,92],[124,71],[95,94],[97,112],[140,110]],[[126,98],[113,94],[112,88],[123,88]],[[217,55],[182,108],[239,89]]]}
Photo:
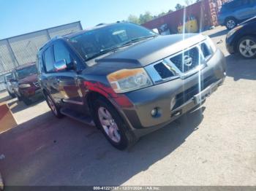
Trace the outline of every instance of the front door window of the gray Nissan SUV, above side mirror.
{"label": "front door window of the gray Nissan SUV, above side mirror", "polygon": [[67,64],[72,62],[70,52],[63,42],[56,42],[53,44],[55,61],[65,60]]}

